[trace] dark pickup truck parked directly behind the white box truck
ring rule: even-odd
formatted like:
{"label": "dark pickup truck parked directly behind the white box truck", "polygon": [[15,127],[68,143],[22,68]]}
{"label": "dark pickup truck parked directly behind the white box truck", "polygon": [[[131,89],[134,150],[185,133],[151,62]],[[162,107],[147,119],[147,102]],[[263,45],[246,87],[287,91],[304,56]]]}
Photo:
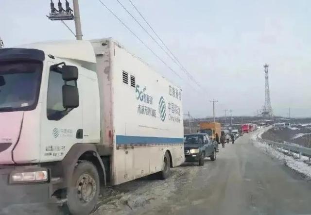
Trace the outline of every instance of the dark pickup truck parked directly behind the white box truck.
{"label": "dark pickup truck parked directly behind the white box truck", "polygon": [[204,158],[216,160],[218,144],[209,138],[207,133],[185,134],[185,158],[186,162],[199,162],[204,165]]}

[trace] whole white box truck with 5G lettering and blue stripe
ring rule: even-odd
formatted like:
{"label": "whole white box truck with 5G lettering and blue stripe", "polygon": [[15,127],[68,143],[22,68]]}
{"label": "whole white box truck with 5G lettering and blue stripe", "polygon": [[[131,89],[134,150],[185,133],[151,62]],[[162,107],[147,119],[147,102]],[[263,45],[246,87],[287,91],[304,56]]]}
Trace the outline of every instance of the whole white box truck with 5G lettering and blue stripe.
{"label": "whole white box truck with 5G lettering and blue stripe", "polygon": [[65,203],[184,162],[182,90],[111,38],[0,50],[0,206]]}

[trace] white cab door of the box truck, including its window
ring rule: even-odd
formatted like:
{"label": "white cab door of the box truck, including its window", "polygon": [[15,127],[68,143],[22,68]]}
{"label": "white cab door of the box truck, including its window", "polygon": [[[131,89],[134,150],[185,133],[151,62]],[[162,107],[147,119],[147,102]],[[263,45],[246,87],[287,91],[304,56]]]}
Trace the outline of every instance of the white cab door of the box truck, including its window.
{"label": "white cab door of the box truck, including its window", "polygon": [[[49,65],[52,66],[51,63]],[[79,77],[80,79],[83,77]],[[77,85],[77,81],[67,82]],[[82,98],[79,93],[79,107],[66,110],[63,107],[62,86],[65,84],[62,73],[51,69],[43,80],[47,90],[46,101],[41,111],[41,161],[61,160],[75,143],[82,142]]]}

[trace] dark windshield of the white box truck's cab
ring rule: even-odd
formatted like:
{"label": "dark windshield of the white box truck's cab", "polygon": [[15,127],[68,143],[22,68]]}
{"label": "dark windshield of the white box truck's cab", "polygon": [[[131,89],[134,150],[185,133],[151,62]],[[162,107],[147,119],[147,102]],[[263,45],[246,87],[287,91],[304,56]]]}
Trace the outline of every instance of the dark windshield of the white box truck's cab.
{"label": "dark windshield of the white box truck's cab", "polygon": [[1,62],[0,112],[34,109],[38,100],[41,73],[40,62]]}

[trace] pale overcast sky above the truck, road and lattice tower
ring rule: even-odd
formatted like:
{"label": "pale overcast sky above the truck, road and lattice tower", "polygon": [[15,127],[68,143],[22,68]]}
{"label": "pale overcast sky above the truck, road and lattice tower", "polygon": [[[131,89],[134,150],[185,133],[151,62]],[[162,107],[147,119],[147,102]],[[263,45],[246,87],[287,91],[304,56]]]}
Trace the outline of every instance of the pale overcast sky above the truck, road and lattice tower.
{"label": "pale overcast sky above the truck, road and lattice tower", "polygon": [[[142,21],[128,0],[120,1]],[[150,53],[98,0],[79,0],[84,39],[113,37],[180,85],[185,113],[212,116],[209,100],[217,99],[216,116],[223,116],[224,109],[232,109],[233,115],[254,115],[264,104],[263,65],[267,63],[275,115],[288,116],[291,107],[293,117],[311,116],[310,0],[133,0],[203,89],[156,46],[117,0],[103,2],[183,79]],[[57,0],[54,3],[57,6]],[[0,0],[0,37],[5,47],[75,39],[61,22],[45,17],[49,11],[50,0]],[[73,21],[67,24],[74,30]]]}

